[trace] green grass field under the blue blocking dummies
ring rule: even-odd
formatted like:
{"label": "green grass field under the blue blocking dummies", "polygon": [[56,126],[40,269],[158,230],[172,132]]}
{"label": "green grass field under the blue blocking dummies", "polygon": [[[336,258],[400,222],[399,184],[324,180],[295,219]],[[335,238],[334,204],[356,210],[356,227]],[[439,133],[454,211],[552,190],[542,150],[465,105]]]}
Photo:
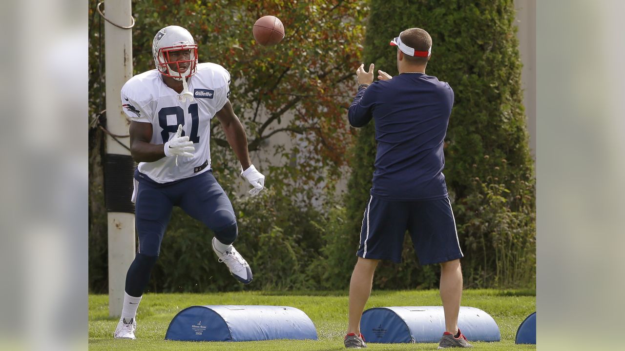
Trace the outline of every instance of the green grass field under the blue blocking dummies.
{"label": "green grass field under the blue blocking dummies", "polygon": [[[437,290],[374,291],[366,308],[440,305]],[[319,341],[173,342],[164,340],[171,319],[191,305],[284,305],[311,318]],[[489,313],[499,325],[501,342],[474,342],[481,350],[536,350],[514,345],[521,322],[536,310],[533,291],[465,290],[462,305]],[[108,295],[89,296],[89,350],[344,350],[346,292],[232,292],[223,294],[146,294],[137,315],[138,340],[114,340],[118,319],[108,317]],[[434,350],[437,344],[369,344],[369,350]]]}

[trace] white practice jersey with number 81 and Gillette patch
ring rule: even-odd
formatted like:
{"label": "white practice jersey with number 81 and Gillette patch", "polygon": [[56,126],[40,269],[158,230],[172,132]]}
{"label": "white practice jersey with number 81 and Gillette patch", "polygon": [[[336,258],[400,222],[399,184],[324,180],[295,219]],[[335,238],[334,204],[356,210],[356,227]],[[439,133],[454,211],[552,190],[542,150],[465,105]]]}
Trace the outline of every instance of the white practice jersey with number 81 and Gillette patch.
{"label": "white practice jersey with number 81 and Gillette patch", "polygon": [[[180,94],[163,82],[156,69],[132,77],[121,89],[124,112],[132,121],[152,124],[152,144],[164,144],[183,125],[195,151],[193,157],[163,157],[159,161],[139,163],[139,172],[159,183],[184,179],[211,168],[211,119],[226,104],[230,95],[230,74],[213,63],[197,65],[188,81],[194,101],[182,102]],[[198,167],[207,166],[198,171]]]}

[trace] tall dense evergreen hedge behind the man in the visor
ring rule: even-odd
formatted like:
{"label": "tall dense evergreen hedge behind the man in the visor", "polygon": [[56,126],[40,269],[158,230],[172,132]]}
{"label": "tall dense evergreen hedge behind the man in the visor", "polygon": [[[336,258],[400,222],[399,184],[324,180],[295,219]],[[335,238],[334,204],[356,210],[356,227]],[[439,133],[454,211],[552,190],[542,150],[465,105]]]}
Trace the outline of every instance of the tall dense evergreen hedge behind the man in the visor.
{"label": "tall dense evergreen hedge behind the man in the visor", "polygon": [[[396,48],[389,47],[389,40],[406,28],[421,27],[433,42],[427,74],[454,89],[444,174],[458,212],[467,282],[477,287],[534,285],[534,180],[513,1],[373,0],[369,6],[365,66],[373,62],[376,70],[396,75]],[[369,199],[373,130],[369,124],[357,133],[350,160],[354,171],[341,234],[350,243],[358,239]],[[377,287],[435,286],[438,267],[416,268],[412,252],[406,240],[404,263],[382,265]]]}

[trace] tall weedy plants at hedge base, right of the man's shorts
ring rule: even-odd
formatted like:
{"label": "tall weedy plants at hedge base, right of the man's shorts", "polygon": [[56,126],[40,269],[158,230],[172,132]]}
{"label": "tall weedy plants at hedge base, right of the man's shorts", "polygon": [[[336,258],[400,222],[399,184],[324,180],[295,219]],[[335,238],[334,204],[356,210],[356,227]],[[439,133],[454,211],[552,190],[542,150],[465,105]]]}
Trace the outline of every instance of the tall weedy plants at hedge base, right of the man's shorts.
{"label": "tall weedy plants at hedge base, right of the man's shorts", "polygon": [[465,260],[465,284],[492,287],[536,287],[536,215],[531,204],[511,209],[511,202],[530,200],[534,184],[521,181],[524,194],[503,184],[474,182],[475,191],[456,204],[458,231],[479,259]]}

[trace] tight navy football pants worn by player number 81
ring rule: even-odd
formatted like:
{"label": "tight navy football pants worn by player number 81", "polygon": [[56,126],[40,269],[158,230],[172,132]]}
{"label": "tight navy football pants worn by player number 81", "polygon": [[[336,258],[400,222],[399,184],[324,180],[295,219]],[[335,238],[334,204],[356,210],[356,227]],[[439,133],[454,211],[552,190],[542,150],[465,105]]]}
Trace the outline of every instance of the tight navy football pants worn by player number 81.
{"label": "tight navy football pants worn by player number 81", "polygon": [[174,206],[181,207],[213,232],[236,224],[230,199],[212,171],[165,184],[154,182],[139,171],[134,172],[134,178],[139,182],[135,224],[141,254],[159,254]]}

